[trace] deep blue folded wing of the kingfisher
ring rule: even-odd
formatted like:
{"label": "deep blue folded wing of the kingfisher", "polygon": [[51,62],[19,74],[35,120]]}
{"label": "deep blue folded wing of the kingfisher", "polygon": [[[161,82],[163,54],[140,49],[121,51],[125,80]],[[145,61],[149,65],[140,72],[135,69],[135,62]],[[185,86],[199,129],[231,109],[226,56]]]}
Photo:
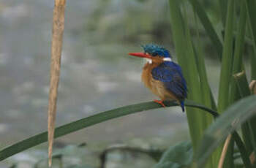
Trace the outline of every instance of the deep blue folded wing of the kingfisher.
{"label": "deep blue folded wing of the kingfisher", "polygon": [[178,99],[187,98],[187,84],[181,71],[181,66],[174,62],[164,62],[152,69],[154,80],[164,83],[167,91],[174,93]]}

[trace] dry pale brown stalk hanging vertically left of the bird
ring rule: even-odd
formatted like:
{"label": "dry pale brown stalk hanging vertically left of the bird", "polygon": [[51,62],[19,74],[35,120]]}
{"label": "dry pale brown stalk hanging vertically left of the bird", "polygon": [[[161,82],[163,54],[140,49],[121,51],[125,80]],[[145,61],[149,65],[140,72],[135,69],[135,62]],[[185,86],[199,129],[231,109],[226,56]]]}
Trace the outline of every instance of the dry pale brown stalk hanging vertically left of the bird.
{"label": "dry pale brown stalk hanging vertically left of the bird", "polygon": [[58,97],[59,75],[61,69],[61,50],[64,31],[65,0],[55,0],[53,9],[53,37],[50,59],[50,91],[48,102],[48,157],[49,167],[52,163],[54,126],[56,120],[56,103]]}

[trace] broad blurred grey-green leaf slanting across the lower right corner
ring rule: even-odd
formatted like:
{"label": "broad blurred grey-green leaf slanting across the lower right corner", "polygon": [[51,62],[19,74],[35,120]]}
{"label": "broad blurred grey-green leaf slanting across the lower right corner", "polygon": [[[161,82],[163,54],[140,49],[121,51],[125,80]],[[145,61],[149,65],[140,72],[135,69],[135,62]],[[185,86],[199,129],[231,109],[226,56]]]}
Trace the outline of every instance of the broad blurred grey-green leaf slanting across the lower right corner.
{"label": "broad blurred grey-green leaf slanting across the lower right corner", "polygon": [[[236,104],[229,107],[217,120],[206,130],[203,137],[202,145],[197,150],[195,157],[195,167],[203,167],[211,153],[225,140],[228,134],[239,129],[242,123],[248,121],[256,114],[256,96],[249,96],[241,99]],[[238,148],[243,145],[237,140],[238,134],[235,134]],[[249,167],[249,158],[246,150],[240,150],[244,164]]]}

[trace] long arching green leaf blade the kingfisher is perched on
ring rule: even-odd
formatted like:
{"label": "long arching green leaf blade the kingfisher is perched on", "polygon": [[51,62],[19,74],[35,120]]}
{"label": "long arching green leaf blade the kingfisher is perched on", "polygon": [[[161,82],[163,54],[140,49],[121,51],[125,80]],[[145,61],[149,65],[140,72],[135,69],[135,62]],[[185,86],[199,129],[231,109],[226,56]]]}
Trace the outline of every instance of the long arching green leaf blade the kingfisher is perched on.
{"label": "long arching green leaf blade the kingfisher is perched on", "polygon": [[[176,102],[165,102],[165,105],[167,107],[173,107],[178,106]],[[207,112],[210,112],[212,115],[217,116],[218,113],[214,110],[208,109],[207,107],[204,107],[201,104],[197,104],[195,102],[186,100],[185,106],[187,107],[197,107],[202,110],[206,110]],[[100,112],[96,115],[92,115],[87,118],[82,118],[78,121],[74,121],[72,123],[67,123],[63,126],[59,126],[55,130],[55,138],[64,136],[65,134],[72,133],[74,131],[78,131],[80,129],[84,129],[89,126],[93,126],[97,123],[102,123],[104,121],[108,121],[113,118],[118,118],[124,115],[133,114],[135,112],[142,112],[145,110],[151,110],[151,109],[157,109],[162,107],[160,104],[157,104],[155,102],[144,102],[139,104],[133,104],[125,107],[119,107],[113,110],[108,110],[105,112]],[[22,140],[20,142],[15,143],[14,145],[10,145],[7,148],[0,150],[0,161],[7,159],[8,157],[19,153],[23,150],[29,149],[31,147],[34,147],[36,145],[41,144],[42,142],[46,142],[47,139],[47,131],[37,134],[33,137],[29,137],[26,140]]]}

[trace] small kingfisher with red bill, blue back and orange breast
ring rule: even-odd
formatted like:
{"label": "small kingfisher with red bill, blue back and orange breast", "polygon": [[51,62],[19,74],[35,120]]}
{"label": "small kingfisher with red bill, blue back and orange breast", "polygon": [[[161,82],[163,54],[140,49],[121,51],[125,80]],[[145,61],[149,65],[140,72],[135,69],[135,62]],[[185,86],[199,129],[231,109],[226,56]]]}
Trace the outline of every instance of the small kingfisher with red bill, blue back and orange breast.
{"label": "small kingfisher with red bill, blue back and orange breast", "polygon": [[143,53],[129,53],[146,59],[141,80],[160,100],[154,100],[162,107],[165,100],[175,100],[184,112],[184,99],[187,98],[187,83],[181,66],[172,61],[169,50],[159,45],[142,45]]}

